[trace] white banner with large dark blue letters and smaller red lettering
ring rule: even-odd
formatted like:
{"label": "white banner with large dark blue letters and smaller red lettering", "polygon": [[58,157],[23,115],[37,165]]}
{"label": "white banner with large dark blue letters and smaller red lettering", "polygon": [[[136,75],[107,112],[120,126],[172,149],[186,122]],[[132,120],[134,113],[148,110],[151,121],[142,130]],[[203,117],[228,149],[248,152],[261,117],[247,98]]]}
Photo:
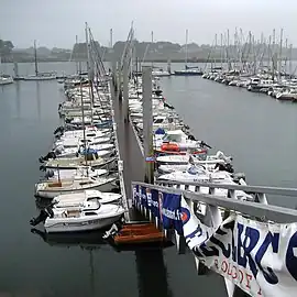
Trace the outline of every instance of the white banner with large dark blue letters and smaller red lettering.
{"label": "white banner with large dark blue letters and smaller red lettering", "polygon": [[184,235],[209,268],[251,296],[297,296],[297,223],[264,223],[234,215],[218,229],[194,216],[182,197]]}

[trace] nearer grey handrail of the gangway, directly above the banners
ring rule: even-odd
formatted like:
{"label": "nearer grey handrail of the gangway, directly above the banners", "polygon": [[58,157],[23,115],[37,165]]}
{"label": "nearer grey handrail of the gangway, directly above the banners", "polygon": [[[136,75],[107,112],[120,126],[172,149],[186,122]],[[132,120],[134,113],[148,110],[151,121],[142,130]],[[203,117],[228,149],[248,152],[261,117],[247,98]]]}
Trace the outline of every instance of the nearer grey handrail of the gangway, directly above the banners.
{"label": "nearer grey handrail of the gangway, directly above the banners", "polygon": [[[183,189],[175,189],[172,187],[156,186],[156,185],[145,184],[141,182],[132,182],[132,186],[135,186],[135,185],[147,187],[150,189],[169,193],[169,194],[177,194],[177,195],[183,194],[186,199],[193,200],[195,202],[204,202],[210,206],[217,206],[217,207],[224,208],[231,211],[242,212],[250,217],[261,218],[262,220],[266,220],[266,221],[275,221],[275,222],[283,222],[283,223],[297,222],[297,210],[295,209],[289,209],[289,208],[273,206],[273,205],[263,205],[263,204],[252,202],[252,201],[243,201],[243,200],[238,200],[238,199],[230,199],[226,197],[219,197],[216,195],[201,194],[201,193],[188,191],[188,190],[183,190]],[[209,185],[212,188],[218,188],[221,186],[219,184],[218,185],[209,184]]]}

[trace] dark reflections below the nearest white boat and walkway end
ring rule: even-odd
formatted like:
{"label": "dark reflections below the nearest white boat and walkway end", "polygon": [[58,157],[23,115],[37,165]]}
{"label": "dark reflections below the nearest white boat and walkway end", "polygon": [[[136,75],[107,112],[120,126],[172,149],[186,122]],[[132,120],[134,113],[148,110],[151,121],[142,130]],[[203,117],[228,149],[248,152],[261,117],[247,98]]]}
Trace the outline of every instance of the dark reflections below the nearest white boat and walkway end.
{"label": "dark reflections below the nearest white boat and walkway end", "polygon": [[[157,296],[173,296],[168,287],[167,270],[163,260],[163,248],[166,249],[172,246],[170,243],[162,248],[156,245],[142,245],[139,248],[125,246],[121,249],[111,242],[103,240],[103,233],[100,231],[80,233],[46,233],[38,229],[31,229],[31,232],[38,235],[51,246],[62,246],[66,249],[80,246],[80,249],[89,253],[88,266],[91,296],[95,296],[96,293],[94,251],[100,250],[102,246],[107,246],[108,244],[117,252],[134,252],[139,297],[155,296],[156,292]],[[152,284],[154,284],[154,286],[152,286]]]}

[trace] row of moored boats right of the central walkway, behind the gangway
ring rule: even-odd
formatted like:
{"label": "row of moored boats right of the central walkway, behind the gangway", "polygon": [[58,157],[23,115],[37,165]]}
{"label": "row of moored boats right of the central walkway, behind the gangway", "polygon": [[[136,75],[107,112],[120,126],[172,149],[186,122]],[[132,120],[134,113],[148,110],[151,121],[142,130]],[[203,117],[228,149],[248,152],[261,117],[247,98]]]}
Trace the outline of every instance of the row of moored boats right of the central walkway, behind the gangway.
{"label": "row of moored boats right of the central walkway, behind the gangway", "polygon": [[[190,133],[189,127],[178,117],[174,107],[165,101],[157,81],[153,81],[153,145],[155,152],[155,182],[182,185],[206,182],[218,184],[245,184],[243,174],[235,174],[232,157],[221,151],[210,153],[210,146]],[[143,110],[141,79],[129,86],[131,121],[138,136],[143,141]],[[195,190],[195,186],[189,186]],[[208,194],[207,187],[201,187]],[[216,195],[227,196],[226,189],[216,189]],[[240,199],[252,199],[243,191],[235,191]]]}

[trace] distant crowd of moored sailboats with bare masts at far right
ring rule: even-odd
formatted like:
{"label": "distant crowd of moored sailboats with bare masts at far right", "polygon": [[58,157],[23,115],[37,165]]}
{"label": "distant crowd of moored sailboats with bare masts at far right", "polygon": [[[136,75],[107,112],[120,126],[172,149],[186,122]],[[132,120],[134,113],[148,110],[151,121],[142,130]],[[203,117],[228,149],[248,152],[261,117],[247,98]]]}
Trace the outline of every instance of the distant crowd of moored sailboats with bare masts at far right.
{"label": "distant crowd of moored sailboats with bare masts at far right", "polygon": [[[274,29],[270,36],[256,38],[251,32],[235,30],[234,38],[229,30],[216,34],[213,52],[220,54],[219,63],[211,59],[205,66],[202,78],[227,86],[245,88],[252,92],[268,95],[279,101],[296,101],[296,67],[293,68],[293,45],[282,29],[278,36]],[[217,53],[216,53],[217,52]],[[218,58],[218,56],[217,56]],[[209,68],[210,65],[210,69]]]}

